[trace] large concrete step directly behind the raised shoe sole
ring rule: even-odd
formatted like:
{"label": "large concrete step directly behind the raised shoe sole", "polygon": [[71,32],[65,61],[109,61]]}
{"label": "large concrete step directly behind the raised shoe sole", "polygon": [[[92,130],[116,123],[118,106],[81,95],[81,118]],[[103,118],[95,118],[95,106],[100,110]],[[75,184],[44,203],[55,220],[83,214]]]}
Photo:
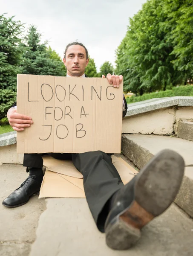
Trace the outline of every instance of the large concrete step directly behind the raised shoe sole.
{"label": "large concrete step directly behind the raised shoe sole", "polygon": [[122,152],[139,169],[165,148],[177,151],[184,158],[185,175],[175,203],[193,218],[193,142],[173,136],[122,135]]}

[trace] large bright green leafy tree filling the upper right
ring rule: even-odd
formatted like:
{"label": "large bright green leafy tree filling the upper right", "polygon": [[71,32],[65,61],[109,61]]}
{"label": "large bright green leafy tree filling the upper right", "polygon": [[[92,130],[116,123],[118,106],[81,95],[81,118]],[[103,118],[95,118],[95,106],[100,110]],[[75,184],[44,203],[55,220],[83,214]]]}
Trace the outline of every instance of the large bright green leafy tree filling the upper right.
{"label": "large bright green leafy tree filling the upper right", "polygon": [[192,27],[192,0],[147,1],[116,51],[124,91],[142,95],[192,79]]}

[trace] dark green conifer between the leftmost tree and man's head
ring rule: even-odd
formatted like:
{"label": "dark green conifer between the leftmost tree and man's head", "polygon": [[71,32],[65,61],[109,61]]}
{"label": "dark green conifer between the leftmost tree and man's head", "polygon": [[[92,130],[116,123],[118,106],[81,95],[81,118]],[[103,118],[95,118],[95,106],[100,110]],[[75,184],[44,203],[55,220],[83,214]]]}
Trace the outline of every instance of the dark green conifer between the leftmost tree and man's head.
{"label": "dark green conifer between the leftmost tree and man's head", "polygon": [[47,48],[47,41],[40,43],[41,35],[30,26],[25,38],[22,72],[31,75],[65,76],[63,62],[55,51]]}

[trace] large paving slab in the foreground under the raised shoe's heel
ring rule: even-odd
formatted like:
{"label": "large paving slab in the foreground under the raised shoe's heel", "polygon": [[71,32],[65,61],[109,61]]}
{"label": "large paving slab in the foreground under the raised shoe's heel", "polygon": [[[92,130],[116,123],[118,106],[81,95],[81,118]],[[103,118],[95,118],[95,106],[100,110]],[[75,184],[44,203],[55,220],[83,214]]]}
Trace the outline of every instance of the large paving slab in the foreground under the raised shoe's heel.
{"label": "large paving slab in the foreground under the raised shoe's heel", "polygon": [[193,220],[175,204],[142,230],[138,243],[126,251],[107,247],[92,219],[86,199],[49,198],[40,216],[30,256],[191,256]]}

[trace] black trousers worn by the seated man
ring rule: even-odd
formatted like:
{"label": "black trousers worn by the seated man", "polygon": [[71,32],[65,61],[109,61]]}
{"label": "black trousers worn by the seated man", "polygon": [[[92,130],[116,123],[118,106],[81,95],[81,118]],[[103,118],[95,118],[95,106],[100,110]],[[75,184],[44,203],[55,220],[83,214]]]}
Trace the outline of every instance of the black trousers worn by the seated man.
{"label": "black trousers worn by the seated man", "polygon": [[[84,191],[89,209],[98,229],[104,232],[104,223],[108,215],[109,199],[123,185],[110,154],[92,151],[81,154],[49,153],[56,159],[72,159],[76,169],[84,177]],[[41,154],[24,154],[23,166],[43,167]]]}

